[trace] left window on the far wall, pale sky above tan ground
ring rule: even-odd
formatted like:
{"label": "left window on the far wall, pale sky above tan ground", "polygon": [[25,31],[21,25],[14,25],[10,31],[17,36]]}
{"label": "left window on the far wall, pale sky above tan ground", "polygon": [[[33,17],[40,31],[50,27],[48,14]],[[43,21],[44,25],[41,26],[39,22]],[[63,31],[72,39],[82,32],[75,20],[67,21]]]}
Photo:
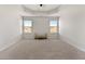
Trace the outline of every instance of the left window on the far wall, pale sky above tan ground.
{"label": "left window on the far wall, pale sky above tan ground", "polygon": [[24,21],[24,33],[32,33],[32,21]]}

